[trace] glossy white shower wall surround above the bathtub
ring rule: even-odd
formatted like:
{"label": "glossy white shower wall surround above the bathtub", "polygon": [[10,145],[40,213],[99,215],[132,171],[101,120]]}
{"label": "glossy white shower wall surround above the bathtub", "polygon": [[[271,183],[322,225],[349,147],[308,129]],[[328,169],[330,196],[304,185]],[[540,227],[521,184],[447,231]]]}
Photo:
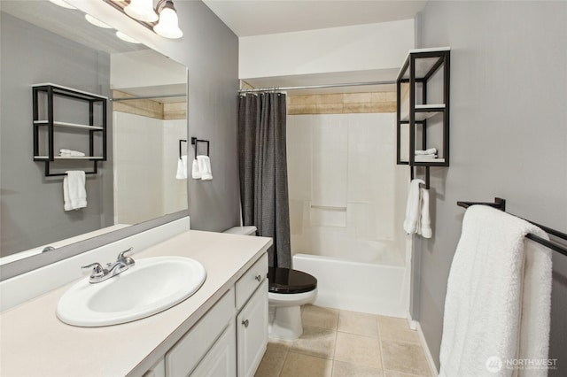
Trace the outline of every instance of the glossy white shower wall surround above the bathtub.
{"label": "glossy white shower wall surround above the bathtub", "polygon": [[288,115],[291,250],[403,265],[394,113]]}

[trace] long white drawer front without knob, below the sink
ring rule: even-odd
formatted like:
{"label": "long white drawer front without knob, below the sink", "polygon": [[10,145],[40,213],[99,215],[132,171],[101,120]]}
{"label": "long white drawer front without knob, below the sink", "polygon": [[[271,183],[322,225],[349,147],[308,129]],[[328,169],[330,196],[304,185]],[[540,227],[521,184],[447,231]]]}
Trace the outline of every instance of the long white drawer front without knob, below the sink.
{"label": "long white drawer front without knob, below the sink", "polygon": [[205,356],[207,350],[213,346],[222,331],[227,327],[229,320],[234,318],[234,290],[230,289],[226,295],[214,304],[191,327],[187,334],[166,354],[166,375],[186,376]]}

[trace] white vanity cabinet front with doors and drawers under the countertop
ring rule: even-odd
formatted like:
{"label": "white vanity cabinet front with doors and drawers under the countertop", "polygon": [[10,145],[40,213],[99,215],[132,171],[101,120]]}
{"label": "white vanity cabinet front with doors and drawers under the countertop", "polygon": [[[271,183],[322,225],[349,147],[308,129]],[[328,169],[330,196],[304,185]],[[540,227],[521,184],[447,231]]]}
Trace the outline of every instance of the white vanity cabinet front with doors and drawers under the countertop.
{"label": "white vanity cabinet front with doors and drawers under the countertop", "polygon": [[267,274],[264,254],[167,351],[165,375],[252,376],[268,343]]}

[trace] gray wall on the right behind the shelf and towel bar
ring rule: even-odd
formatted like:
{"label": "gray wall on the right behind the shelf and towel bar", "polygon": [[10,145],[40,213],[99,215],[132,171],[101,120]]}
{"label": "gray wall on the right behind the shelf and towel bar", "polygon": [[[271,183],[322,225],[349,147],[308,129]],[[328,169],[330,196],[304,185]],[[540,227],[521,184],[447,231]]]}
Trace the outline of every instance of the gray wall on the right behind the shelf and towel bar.
{"label": "gray wall on the right behind the shelf and towel bar", "polygon": [[[416,242],[414,304],[439,367],[447,276],[462,226],[457,200],[567,231],[567,3],[430,2],[422,47],[451,46],[451,166],[431,169],[434,238]],[[567,258],[555,253],[550,358],[567,372]]]}

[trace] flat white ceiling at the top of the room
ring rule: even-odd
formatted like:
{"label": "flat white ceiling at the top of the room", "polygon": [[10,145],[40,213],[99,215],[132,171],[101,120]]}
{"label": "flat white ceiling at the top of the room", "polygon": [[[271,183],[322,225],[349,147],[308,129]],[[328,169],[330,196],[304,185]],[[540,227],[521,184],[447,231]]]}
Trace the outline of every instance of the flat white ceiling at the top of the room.
{"label": "flat white ceiling at the top of the room", "polygon": [[237,36],[413,19],[415,0],[203,0]]}

